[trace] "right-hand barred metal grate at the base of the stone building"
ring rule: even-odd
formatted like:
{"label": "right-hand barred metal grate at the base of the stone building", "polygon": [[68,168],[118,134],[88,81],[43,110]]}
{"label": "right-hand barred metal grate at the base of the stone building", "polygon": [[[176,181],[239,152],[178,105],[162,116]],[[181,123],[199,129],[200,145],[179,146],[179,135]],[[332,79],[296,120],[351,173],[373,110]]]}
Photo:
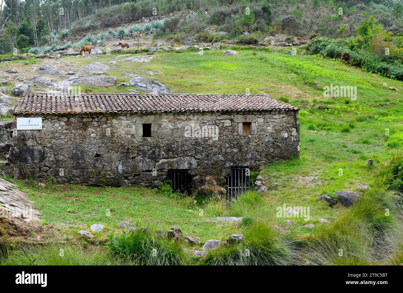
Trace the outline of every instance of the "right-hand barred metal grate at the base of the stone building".
{"label": "right-hand barred metal grate at the base of the stone building", "polygon": [[248,190],[250,184],[250,171],[245,167],[232,167],[227,177],[227,198],[237,198],[239,194]]}

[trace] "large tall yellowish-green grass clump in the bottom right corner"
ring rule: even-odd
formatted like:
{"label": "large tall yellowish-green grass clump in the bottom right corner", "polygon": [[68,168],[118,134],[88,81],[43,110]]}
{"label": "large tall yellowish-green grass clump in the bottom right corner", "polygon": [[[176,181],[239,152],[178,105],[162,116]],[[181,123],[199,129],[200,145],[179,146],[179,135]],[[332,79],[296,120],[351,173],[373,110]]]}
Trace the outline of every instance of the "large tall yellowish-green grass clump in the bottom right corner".
{"label": "large tall yellowish-green grass clump in the bottom right corner", "polygon": [[395,230],[401,230],[402,223],[393,196],[377,188],[368,190],[334,223],[318,227],[302,248],[304,258],[318,265],[373,265],[384,263],[393,251],[399,259],[393,248],[401,234]]}

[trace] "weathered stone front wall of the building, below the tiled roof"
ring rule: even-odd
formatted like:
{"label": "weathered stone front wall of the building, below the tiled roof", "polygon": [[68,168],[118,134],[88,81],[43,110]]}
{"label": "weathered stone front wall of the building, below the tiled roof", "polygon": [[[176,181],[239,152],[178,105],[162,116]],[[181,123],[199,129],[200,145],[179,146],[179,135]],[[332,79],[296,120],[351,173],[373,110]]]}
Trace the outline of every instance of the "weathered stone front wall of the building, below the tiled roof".
{"label": "weathered stone front wall of the building, below the tiled roof", "polygon": [[[189,169],[195,177],[218,170],[226,176],[231,167],[259,169],[299,156],[299,118],[294,111],[42,117],[42,130],[14,132],[8,161],[15,164],[15,177],[150,186],[160,184],[169,169]],[[242,122],[251,122],[250,135],[242,135]],[[142,136],[143,124],[152,124],[151,137]],[[199,132],[197,126],[204,128]]]}

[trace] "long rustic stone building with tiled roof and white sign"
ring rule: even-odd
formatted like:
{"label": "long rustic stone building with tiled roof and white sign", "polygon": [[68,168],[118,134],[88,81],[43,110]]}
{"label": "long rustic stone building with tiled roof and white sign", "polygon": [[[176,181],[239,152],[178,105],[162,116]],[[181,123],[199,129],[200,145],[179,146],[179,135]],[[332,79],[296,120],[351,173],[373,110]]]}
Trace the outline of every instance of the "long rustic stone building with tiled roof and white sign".
{"label": "long rustic stone building with tiled roof and white sign", "polygon": [[40,182],[187,190],[299,156],[298,109],[266,95],[29,94],[13,123],[8,163]]}

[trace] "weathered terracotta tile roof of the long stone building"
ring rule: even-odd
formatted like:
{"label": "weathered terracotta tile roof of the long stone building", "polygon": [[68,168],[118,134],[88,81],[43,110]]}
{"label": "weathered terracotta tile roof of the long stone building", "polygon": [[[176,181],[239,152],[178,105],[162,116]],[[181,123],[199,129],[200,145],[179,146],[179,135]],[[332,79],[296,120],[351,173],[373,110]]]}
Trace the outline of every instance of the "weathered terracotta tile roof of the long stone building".
{"label": "weathered terracotta tile roof of the long stone building", "polygon": [[23,95],[15,114],[298,110],[266,95]]}

